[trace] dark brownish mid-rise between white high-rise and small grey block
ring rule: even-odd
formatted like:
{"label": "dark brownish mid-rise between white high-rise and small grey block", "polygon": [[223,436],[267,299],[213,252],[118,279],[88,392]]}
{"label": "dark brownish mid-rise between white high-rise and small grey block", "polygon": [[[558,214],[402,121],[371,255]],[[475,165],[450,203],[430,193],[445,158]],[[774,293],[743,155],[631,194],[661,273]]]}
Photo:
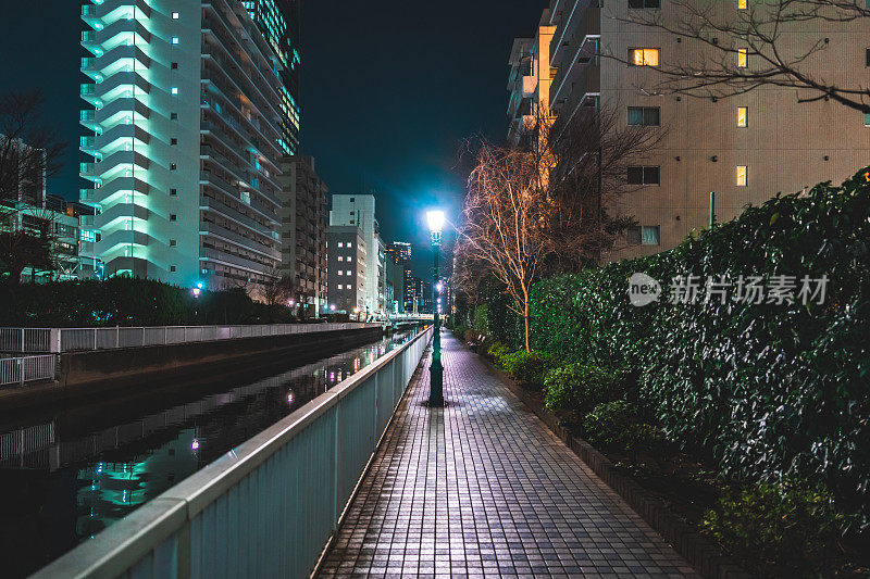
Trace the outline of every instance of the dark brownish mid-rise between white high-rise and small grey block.
{"label": "dark brownish mid-rise between white high-rise and small grey block", "polygon": [[326,196],[311,156],[282,160],[281,272],[293,279],[294,300],[306,315],[326,303]]}

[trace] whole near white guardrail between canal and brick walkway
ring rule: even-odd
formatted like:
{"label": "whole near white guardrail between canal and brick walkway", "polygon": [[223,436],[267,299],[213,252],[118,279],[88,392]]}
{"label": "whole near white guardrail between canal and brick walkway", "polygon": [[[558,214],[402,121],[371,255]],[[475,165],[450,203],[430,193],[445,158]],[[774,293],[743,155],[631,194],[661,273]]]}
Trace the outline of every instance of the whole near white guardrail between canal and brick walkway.
{"label": "whole near white guardrail between canal and brick walkway", "polygon": [[431,339],[430,327],[33,577],[308,577]]}

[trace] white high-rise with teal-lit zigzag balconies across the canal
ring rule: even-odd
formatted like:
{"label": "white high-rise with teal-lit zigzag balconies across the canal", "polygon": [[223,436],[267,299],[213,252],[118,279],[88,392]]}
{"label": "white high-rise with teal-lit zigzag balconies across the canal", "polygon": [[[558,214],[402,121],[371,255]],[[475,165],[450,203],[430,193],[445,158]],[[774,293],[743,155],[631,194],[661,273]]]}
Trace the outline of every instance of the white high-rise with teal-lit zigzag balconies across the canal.
{"label": "white high-rise with teal-lit zigzag balconies across the canal", "polygon": [[[281,261],[282,72],[236,0],[91,0],[82,112],[107,276],[258,284]],[[254,286],[256,288],[256,286]]]}

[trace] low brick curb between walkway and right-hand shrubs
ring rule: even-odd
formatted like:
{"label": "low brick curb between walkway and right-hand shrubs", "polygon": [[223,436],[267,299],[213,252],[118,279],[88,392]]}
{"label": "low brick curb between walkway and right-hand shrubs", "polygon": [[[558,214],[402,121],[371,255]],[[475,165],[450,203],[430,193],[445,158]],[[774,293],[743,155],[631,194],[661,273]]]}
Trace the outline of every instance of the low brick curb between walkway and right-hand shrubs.
{"label": "low brick curb between walkway and right-hand shrubs", "polygon": [[[461,340],[460,340],[461,341]],[[595,450],[588,442],[571,436],[569,430],[559,426],[556,416],[529,392],[523,390],[504,372],[493,365],[485,356],[477,354],[489,372],[501,380],[508,389],[520,399],[547,428],[564,442],[581,461],[619,494],[635,513],[641,515],[662,539],[673,546],[706,579],[749,579],[753,576],[744,571],[731,557],[724,555],[719,546],[701,536],[697,529],[671,513],[660,499],[655,498],[634,480],[622,475],[610,460]]]}

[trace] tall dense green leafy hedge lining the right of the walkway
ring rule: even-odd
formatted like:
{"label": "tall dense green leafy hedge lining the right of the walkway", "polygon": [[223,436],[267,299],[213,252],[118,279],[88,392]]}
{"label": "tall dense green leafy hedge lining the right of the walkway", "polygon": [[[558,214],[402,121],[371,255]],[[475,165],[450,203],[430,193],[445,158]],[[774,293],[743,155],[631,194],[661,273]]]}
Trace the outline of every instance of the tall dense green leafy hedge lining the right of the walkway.
{"label": "tall dense green leafy hedge lining the right of the walkway", "polygon": [[[870,523],[870,169],[778,197],[672,251],[545,280],[532,347],[620,368],[668,437],[735,478],[824,481]],[[629,278],[821,278],[822,304],[635,307]],[[799,287],[799,282],[798,282]],[[733,289],[733,288],[732,288]]]}

